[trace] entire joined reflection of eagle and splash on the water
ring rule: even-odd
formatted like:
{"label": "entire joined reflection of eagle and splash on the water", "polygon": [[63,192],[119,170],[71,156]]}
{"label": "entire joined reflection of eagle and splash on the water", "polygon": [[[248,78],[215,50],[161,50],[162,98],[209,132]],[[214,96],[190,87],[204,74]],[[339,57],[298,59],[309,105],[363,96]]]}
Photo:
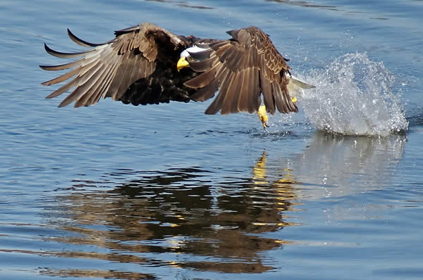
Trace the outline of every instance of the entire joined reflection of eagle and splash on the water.
{"label": "entire joined reflection of eagle and splash on the water", "polygon": [[[274,158],[263,151],[249,173],[239,172],[243,176],[186,167],[118,170],[98,182],[75,180],[70,189],[57,190],[61,214],[47,221],[49,227],[67,234],[44,240],[70,249],[45,255],[134,266],[44,267],[39,273],[154,279],[163,274],[160,267],[223,273],[275,269],[281,264],[264,253],[295,242],[269,237],[270,233],[283,236],[279,232],[283,228],[299,225],[290,219],[307,201],[326,196],[323,184],[333,186],[333,196],[382,188],[402,157],[404,144],[405,136],[317,132],[300,154]],[[357,174],[363,174],[361,182]]]}

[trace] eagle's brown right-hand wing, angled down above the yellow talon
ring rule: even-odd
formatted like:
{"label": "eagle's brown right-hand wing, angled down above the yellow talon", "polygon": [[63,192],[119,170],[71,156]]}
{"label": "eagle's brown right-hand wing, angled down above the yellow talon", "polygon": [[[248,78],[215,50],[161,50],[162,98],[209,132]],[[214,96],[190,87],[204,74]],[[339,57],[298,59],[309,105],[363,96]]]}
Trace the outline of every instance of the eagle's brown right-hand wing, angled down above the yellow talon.
{"label": "eagle's brown right-hand wing, angled down above the yellow talon", "polygon": [[[207,114],[249,112],[259,109],[263,94],[267,112],[274,114],[298,112],[287,89],[286,73],[289,66],[271,43],[269,37],[257,27],[228,31],[232,39],[210,44],[210,49],[191,53],[190,68],[202,74],[185,82],[185,86],[198,89],[191,96],[196,101],[218,96],[207,108]],[[206,58],[204,58],[206,54]]]}

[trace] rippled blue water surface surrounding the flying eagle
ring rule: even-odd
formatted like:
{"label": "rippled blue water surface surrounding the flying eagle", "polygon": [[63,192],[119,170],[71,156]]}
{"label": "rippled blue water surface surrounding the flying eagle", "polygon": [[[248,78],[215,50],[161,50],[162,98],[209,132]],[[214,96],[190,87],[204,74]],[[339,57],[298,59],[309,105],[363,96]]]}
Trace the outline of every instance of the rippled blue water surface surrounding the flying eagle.
{"label": "rippled blue water surface surrounding the flying eagle", "polygon": [[[423,1],[1,1],[1,279],[422,279]],[[295,115],[46,100],[58,60],[153,22],[257,25]],[[59,61],[59,63],[62,63]]]}

